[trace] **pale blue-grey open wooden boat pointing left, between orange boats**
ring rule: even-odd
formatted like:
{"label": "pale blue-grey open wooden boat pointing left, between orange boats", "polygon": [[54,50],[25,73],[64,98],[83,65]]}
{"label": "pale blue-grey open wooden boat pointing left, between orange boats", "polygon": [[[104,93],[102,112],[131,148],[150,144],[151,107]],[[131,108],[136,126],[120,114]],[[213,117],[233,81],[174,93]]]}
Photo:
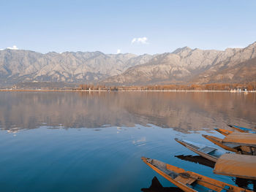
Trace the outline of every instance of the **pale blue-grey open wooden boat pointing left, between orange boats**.
{"label": "pale blue-grey open wooden boat pointing left, between orange boats", "polygon": [[196,142],[190,142],[184,139],[177,139],[175,138],[176,142],[180,143],[184,147],[187,147],[189,150],[201,155],[204,158],[207,158],[210,161],[216,162],[217,159],[225,154],[225,150],[219,150],[215,147],[211,147],[208,145],[199,144]]}

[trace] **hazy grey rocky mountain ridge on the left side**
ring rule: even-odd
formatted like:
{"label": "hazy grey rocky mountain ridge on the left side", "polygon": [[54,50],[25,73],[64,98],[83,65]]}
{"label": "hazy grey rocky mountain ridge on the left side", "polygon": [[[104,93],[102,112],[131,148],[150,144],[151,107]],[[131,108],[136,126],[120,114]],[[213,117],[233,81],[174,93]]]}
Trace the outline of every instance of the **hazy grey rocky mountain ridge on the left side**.
{"label": "hazy grey rocky mountain ridge on the left side", "polygon": [[0,85],[17,82],[94,82],[144,64],[152,55],[101,52],[36,53],[30,50],[0,51]]}

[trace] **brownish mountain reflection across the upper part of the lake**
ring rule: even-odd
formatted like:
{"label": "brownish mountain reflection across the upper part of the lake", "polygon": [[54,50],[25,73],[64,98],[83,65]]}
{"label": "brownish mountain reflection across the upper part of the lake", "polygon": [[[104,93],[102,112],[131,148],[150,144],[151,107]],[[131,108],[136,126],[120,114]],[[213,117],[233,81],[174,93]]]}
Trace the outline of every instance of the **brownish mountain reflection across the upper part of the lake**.
{"label": "brownish mountain reflection across the upper part of the lake", "polygon": [[[202,92],[0,92],[1,129],[146,126],[188,132],[254,127],[256,94]],[[231,129],[230,129],[231,130]]]}

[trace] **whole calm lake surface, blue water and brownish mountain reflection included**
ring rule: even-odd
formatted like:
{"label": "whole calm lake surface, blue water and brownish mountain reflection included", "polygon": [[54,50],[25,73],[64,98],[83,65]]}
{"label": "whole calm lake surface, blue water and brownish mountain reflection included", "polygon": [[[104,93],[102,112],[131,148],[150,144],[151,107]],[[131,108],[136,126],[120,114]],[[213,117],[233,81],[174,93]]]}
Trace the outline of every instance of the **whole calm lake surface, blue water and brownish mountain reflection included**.
{"label": "whole calm lake surface, blue water and brownish mountain reflection included", "polygon": [[175,137],[212,145],[200,134],[222,137],[214,128],[227,123],[256,126],[255,93],[0,92],[0,191],[140,191],[154,176],[173,186],[143,155],[236,185],[176,157],[195,153]]}

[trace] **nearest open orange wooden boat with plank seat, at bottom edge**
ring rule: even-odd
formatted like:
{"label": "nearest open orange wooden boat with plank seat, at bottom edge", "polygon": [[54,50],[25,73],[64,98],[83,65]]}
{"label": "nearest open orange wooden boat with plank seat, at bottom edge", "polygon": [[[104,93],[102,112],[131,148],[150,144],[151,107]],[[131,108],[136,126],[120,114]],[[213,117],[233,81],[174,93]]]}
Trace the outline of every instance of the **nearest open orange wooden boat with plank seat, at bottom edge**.
{"label": "nearest open orange wooden boat with plank seat, at bottom edge", "polygon": [[184,169],[165,164],[152,158],[141,158],[145,164],[151,167],[155,172],[165,177],[170,183],[173,183],[178,188],[185,192],[197,191],[215,191],[215,192],[241,192],[249,191],[244,188],[239,188],[235,185],[230,185],[219,180],[211,179],[210,177],[197,174],[195,172],[185,171]]}

